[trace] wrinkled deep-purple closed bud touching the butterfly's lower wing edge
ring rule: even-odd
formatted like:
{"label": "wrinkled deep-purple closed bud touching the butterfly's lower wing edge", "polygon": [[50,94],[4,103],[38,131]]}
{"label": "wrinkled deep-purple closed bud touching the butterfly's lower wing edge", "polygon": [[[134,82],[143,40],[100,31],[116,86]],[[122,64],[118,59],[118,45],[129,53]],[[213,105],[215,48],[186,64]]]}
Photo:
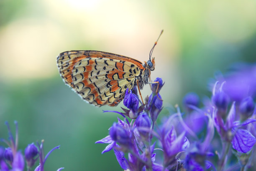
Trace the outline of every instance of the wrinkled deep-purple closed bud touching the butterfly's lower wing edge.
{"label": "wrinkled deep-purple closed bud touching the butterfly's lower wing edge", "polygon": [[123,104],[127,108],[131,109],[133,111],[133,113],[136,113],[136,111],[138,111],[138,108],[139,108],[138,96],[133,94],[131,91],[129,93],[129,90],[127,89],[125,91],[125,98],[123,100]]}

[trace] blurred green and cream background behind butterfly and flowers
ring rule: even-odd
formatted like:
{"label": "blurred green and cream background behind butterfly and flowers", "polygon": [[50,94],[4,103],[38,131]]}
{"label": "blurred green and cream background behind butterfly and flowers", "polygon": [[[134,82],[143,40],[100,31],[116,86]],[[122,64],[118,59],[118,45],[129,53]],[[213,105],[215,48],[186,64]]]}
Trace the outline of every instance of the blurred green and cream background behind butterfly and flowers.
{"label": "blurred green and cream background behind butterfly and flowers", "polygon": [[121,170],[113,151],[101,154],[106,145],[94,143],[117,121],[102,110],[122,104],[82,101],[61,80],[56,56],[100,50],[148,60],[161,29],[151,78],[165,81],[165,106],[189,91],[210,95],[215,71],[256,59],[255,0],[0,0],[0,137],[16,120],[20,149],[42,139],[45,153],[61,145],[45,170]]}

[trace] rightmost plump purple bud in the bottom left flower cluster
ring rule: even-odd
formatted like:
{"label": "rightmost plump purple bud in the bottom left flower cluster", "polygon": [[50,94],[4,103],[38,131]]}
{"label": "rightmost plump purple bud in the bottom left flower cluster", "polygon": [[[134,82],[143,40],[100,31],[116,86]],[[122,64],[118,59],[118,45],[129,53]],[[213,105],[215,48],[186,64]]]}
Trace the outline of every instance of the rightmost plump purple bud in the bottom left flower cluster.
{"label": "rightmost plump purple bud in the bottom left flower cluster", "polygon": [[[34,145],[34,143],[28,144],[28,146],[25,148],[25,158],[26,158],[26,162],[27,162],[27,166],[29,168],[31,168],[32,166],[34,166],[36,160],[38,157],[38,149],[37,147]],[[36,158],[35,158],[36,157]]]}

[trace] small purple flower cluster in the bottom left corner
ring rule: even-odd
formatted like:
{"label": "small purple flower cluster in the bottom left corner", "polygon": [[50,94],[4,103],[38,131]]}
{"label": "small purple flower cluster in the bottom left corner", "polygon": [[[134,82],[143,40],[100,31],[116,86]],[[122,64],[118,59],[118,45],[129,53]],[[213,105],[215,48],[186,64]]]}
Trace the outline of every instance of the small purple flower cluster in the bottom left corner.
{"label": "small purple flower cluster in the bottom left corner", "polygon": [[[38,158],[39,165],[36,167],[35,171],[44,171],[44,163],[46,162],[46,159],[52,151],[57,148],[59,149],[59,146],[54,147],[46,156],[44,156],[44,140],[41,141],[41,144],[37,142],[37,146],[34,145],[34,143],[28,144],[24,151],[24,158],[22,152],[18,151],[18,123],[16,121],[14,123],[16,126],[15,138],[10,131],[8,122],[5,123],[8,128],[10,142],[1,139],[1,141],[5,142],[9,147],[4,148],[0,146],[0,171],[23,171],[25,168],[25,161],[27,171],[31,171]],[[57,171],[60,171],[61,169],[63,168],[59,168]]]}

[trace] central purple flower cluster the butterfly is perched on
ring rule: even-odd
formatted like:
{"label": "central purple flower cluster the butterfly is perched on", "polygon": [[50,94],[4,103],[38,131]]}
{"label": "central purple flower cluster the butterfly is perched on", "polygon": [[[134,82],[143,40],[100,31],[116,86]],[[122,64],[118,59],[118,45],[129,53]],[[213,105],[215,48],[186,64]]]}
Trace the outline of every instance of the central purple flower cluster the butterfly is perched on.
{"label": "central purple flower cluster the butterfly is perched on", "polygon": [[[123,109],[125,113],[104,111],[119,113],[125,121],[118,118],[118,123],[113,123],[110,127],[109,135],[96,143],[108,143],[109,145],[102,153],[113,149],[118,163],[125,170],[168,171],[180,168],[182,165],[178,158],[179,153],[189,147],[185,132],[177,136],[171,124],[173,116],[168,118],[157,131],[154,131],[154,123],[163,105],[159,91],[164,85],[161,78],[156,78],[154,82],[158,82],[159,85],[158,83],[152,85],[152,93],[146,98],[145,105],[139,106],[138,96],[127,90],[123,102],[128,108]],[[125,116],[133,120],[129,122]],[[161,148],[155,148],[154,137],[158,138]],[[164,153],[164,163],[156,162],[156,150]],[[125,153],[128,153],[128,158],[125,157]]]}

